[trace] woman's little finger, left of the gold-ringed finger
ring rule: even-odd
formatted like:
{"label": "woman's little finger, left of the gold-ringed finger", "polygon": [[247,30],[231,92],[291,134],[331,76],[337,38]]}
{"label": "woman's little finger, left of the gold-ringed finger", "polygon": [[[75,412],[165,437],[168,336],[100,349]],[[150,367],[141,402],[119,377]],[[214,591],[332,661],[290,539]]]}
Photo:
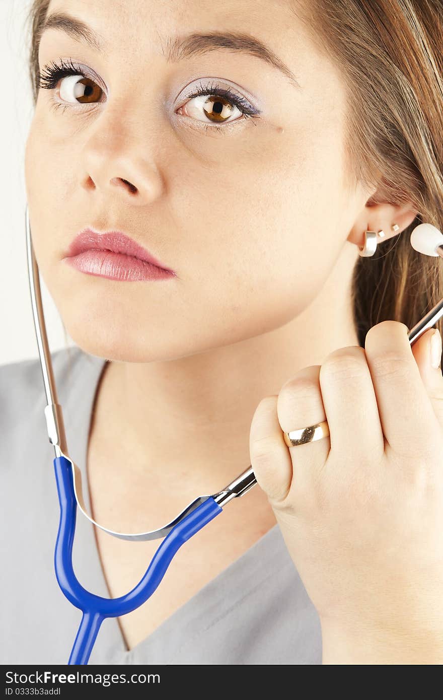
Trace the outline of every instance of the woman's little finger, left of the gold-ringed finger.
{"label": "woman's little finger, left of the gold-ringed finger", "polygon": [[263,398],[255,409],[249,432],[249,455],[258,485],[271,503],[288,494],[293,465],[277,417],[277,395]]}

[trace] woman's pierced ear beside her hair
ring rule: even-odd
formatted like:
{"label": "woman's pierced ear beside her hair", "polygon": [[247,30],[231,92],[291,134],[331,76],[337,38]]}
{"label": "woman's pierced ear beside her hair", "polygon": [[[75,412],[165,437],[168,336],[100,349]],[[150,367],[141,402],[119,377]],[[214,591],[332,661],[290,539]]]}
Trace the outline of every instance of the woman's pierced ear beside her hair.
{"label": "woman's pierced ear beside her hair", "polygon": [[[418,214],[418,211],[409,202],[406,204],[388,204],[388,202],[379,201],[379,199],[381,199],[381,188],[370,196],[360,214],[358,214],[347,238],[350,243],[363,247],[365,231],[379,232],[380,230],[383,230],[385,235],[378,237],[377,242],[383,243],[388,238],[392,238],[404,231]],[[399,227],[397,231],[392,229],[395,223]]]}

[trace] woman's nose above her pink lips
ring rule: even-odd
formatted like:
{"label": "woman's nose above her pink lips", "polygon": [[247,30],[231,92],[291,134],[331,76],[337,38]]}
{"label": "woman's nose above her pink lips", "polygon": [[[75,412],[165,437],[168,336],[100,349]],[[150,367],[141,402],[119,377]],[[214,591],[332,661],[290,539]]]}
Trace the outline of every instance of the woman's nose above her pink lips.
{"label": "woman's nose above her pink lips", "polygon": [[[112,204],[143,206],[162,193],[162,175],[155,162],[153,130],[135,132],[125,128],[122,115],[103,113],[94,123],[93,132],[83,146],[86,190],[97,190]],[[145,122],[146,123],[146,122]]]}

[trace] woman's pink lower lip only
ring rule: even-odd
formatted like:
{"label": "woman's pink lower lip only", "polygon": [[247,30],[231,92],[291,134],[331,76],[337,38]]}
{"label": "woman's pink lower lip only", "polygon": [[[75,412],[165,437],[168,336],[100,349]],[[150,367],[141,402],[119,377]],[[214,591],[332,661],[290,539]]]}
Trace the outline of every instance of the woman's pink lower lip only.
{"label": "woman's pink lower lip only", "polygon": [[146,260],[133,258],[124,253],[112,253],[111,251],[99,251],[92,248],[73,257],[64,258],[68,265],[75,267],[85,274],[93,274],[106,279],[118,279],[125,282],[134,282],[148,279],[166,279],[174,277],[162,267],[151,265]]}

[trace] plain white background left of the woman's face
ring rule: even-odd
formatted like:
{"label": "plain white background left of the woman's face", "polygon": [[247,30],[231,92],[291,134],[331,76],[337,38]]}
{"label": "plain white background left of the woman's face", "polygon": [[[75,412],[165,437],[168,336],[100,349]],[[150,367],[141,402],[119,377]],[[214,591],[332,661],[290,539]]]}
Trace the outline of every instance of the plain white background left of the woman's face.
{"label": "plain white background left of the woman's face", "polygon": [[[38,357],[24,228],[24,146],[34,111],[27,66],[29,5],[29,0],[0,0],[0,365]],[[41,290],[50,350],[73,344],[43,279]]]}

